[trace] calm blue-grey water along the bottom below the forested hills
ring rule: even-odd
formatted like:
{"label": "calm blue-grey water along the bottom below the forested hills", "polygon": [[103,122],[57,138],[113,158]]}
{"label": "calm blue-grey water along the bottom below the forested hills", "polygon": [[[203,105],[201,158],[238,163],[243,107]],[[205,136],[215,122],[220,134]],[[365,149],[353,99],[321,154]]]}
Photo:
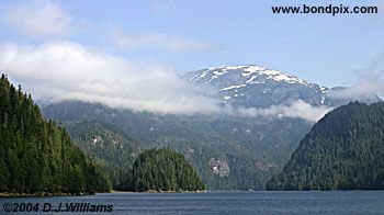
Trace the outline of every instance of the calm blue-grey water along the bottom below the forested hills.
{"label": "calm blue-grey water along the bottom below the forested hills", "polygon": [[[23,203],[24,206],[25,203],[33,206],[38,203],[38,212],[4,212],[4,207],[9,210],[11,205],[14,210],[16,204],[20,211]],[[69,197],[18,197],[0,199],[0,214],[78,214],[42,212],[44,205],[46,211],[50,205],[52,211],[58,208],[59,203],[113,207],[112,213],[97,214],[384,214],[384,191],[109,193]]]}

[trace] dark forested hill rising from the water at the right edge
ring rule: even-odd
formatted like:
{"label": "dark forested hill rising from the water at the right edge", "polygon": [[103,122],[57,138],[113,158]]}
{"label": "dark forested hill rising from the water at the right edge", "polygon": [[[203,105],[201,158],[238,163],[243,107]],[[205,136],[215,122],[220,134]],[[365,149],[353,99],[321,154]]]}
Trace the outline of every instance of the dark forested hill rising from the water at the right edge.
{"label": "dark forested hill rising from the water at the right edge", "polygon": [[384,189],[384,103],[328,113],[300,143],[269,190]]}

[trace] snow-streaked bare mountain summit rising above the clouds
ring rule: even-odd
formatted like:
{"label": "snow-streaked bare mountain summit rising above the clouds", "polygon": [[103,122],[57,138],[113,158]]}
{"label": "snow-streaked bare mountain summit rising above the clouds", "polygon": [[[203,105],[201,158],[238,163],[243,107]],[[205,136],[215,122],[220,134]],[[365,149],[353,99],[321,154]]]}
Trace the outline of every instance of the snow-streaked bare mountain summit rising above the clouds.
{"label": "snow-streaked bare mountain summit rising above the clouds", "polygon": [[[242,108],[289,105],[302,100],[310,105],[339,106],[357,98],[335,99],[342,88],[326,88],[281,71],[257,65],[227,66],[188,72],[182,76],[207,94]],[[358,98],[362,102],[381,101],[379,97]]]}

